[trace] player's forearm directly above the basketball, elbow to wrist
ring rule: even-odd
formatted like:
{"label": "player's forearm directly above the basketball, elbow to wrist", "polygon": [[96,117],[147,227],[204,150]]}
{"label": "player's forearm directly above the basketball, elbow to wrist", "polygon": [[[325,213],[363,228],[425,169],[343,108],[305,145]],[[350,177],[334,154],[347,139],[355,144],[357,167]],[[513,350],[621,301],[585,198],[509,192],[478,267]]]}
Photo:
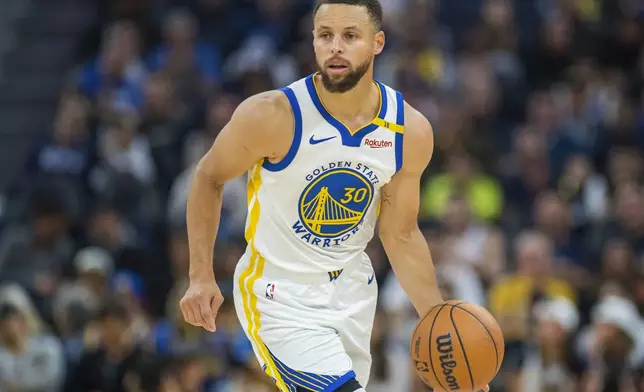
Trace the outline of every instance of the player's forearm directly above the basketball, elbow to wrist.
{"label": "player's forearm directly above the basketball, elbow to wrist", "polygon": [[391,267],[419,315],[443,301],[427,242],[420,230],[407,235],[382,236]]}

